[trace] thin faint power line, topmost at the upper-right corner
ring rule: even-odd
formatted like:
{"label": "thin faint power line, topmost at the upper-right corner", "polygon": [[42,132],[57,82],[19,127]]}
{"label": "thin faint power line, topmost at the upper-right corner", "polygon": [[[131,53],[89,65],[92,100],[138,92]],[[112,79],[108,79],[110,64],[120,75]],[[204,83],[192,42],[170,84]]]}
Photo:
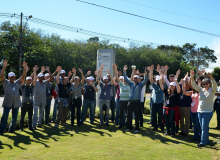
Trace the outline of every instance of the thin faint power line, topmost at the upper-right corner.
{"label": "thin faint power line, topmost at the upper-right corner", "polygon": [[191,15],[171,12],[171,11],[167,11],[167,10],[163,10],[163,9],[159,9],[159,8],[155,8],[155,7],[151,7],[151,6],[147,6],[147,5],[144,5],[144,4],[140,4],[140,3],[136,3],[136,2],[132,2],[132,1],[128,1],[128,0],[122,0],[122,1],[125,1],[125,2],[128,2],[128,3],[132,3],[132,4],[135,4],[135,5],[139,5],[139,6],[142,6],[142,7],[151,8],[151,9],[154,9],[154,10],[162,11],[162,12],[167,12],[167,13],[171,13],[171,14],[180,15],[180,16],[185,16],[185,17],[190,17],[190,18],[195,18],[195,19],[201,19],[201,20],[205,20],[205,21],[218,22],[218,23],[220,22],[218,20],[206,19],[206,18],[195,17],[195,16],[191,16]]}

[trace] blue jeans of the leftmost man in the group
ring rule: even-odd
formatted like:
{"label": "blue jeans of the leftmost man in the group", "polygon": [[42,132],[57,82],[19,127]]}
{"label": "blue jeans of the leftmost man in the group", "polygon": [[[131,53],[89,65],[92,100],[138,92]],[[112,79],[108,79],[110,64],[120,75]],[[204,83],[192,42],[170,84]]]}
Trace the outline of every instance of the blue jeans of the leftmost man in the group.
{"label": "blue jeans of the leftmost man in the group", "polygon": [[3,114],[2,114],[2,118],[1,118],[0,133],[3,133],[6,129],[8,115],[9,115],[9,112],[11,109],[12,109],[12,120],[11,120],[11,124],[9,126],[9,131],[13,132],[15,130],[19,108],[14,108],[14,105],[13,105],[12,108],[4,107],[4,109],[3,109]]}

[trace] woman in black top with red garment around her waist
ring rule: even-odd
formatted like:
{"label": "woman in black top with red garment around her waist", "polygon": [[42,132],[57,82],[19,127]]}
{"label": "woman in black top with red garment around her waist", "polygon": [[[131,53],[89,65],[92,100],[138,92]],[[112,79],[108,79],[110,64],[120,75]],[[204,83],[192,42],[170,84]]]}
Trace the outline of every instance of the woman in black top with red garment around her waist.
{"label": "woman in black top with red garment around her waist", "polygon": [[[174,76],[174,82],[171,82],[168,88],[168,99],[163,107],[163,115],[166,124],[166,133],[164,135],[170,135],[171,137],[175,137],[175,123],[179,128],[179,95],[181,92],[180,85],[177,81],[178,72]],[[170,131],[171,130],[171,131]]]}

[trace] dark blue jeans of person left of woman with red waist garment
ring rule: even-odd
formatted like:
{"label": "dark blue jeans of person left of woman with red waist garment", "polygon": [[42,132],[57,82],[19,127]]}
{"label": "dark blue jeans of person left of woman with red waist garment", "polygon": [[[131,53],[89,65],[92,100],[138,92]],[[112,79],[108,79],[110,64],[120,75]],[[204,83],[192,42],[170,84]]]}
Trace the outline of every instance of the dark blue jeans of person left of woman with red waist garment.
{"label": "dark blue jeans of person left of woman with red waist garment", "polygon": [[162,118],[163,118],[163,103],[153,103],[152,102],[152,126],[154,128],[158,128],[157,125],[157,113],[158,113],[158,123],[160,126],[160,129],[164,129],[164,124],[162,123]]}

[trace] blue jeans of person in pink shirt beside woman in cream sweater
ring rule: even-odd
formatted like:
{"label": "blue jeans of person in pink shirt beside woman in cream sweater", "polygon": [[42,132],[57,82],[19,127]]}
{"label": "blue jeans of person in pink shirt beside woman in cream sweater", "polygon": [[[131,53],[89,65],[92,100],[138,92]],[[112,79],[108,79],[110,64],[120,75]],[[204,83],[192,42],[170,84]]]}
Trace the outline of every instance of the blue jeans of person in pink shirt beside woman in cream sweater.
{"label": "blue jeans of person in pink shirt beside woman in cream sweater", "polygon": [[190,117],[191,117],[191,120],[194,124],[194,136],[193,136],[193,139],[196,139],[196,140],[201,140],[201,127],[200,127],[200,124],[199,124],[199,118],[198,118],[198,113],[193,113],[190,111]]}

